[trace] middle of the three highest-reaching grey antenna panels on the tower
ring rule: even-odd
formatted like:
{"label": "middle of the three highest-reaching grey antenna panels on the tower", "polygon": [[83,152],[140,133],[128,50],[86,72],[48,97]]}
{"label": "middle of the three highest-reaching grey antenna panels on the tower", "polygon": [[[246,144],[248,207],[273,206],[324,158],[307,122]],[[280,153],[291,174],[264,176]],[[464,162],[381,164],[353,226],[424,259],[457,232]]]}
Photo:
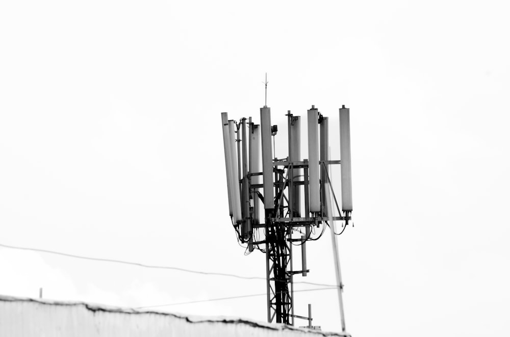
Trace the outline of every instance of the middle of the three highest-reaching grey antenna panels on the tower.
{"label": "middle of the three highest-reaching grey antenna panels on the tower", "polygon": [[308,110],[308,171],[310,175],[310,212],[320,212],[319,112]]}

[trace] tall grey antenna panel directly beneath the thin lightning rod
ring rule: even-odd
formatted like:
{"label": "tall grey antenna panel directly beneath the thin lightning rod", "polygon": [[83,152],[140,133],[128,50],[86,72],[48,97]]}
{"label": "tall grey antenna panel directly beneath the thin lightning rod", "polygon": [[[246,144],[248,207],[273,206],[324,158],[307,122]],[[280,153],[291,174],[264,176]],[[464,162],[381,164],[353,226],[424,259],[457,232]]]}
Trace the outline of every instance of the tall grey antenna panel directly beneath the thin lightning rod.
{"label": "tall grey antenna panel directly beneath the thin lightning rod", "polygon": [[264,179],[264,208],[274,209],[273,149],[271,147],[271,109],[260,108],[262,137],[262,177]]}

